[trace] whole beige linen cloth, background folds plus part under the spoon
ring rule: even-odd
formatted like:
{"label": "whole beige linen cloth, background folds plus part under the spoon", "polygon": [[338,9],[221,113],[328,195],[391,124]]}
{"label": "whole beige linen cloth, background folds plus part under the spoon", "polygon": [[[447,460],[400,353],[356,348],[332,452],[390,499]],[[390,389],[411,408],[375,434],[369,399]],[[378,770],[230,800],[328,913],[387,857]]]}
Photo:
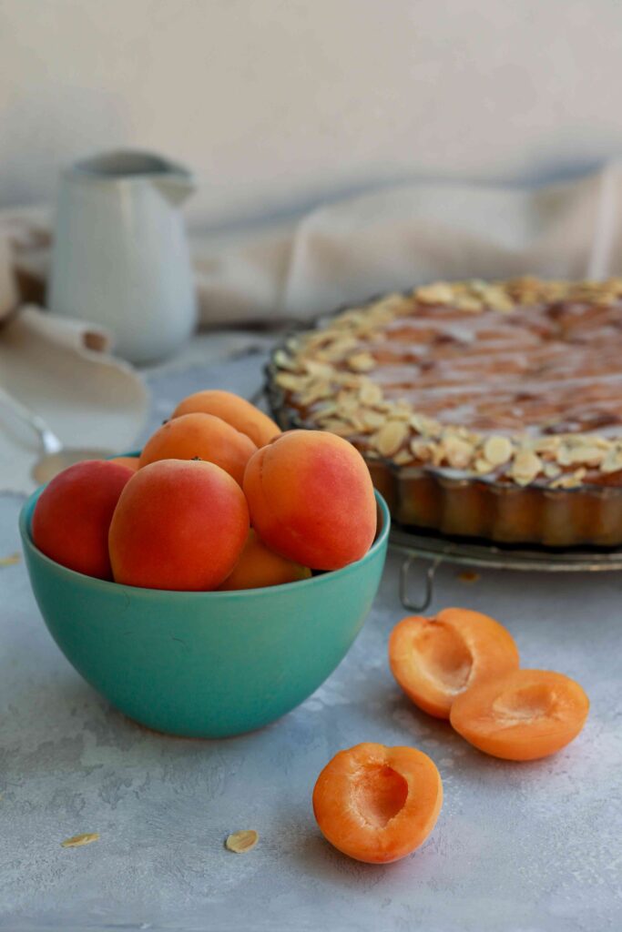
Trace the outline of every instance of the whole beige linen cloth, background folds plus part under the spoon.
{"label": "whole beige linen cloth, background folds plus part under the spoon", "polygon": [[[201,233],[200,222],[200,213],[190,215],[202,326],[307,322],[343,303],[439,278],[534,273],[583,279],[620,274],[622,165],[609,164],[578,181],[538,188],[396,185],[227,236]],[[5,212],[0,228],[11,240],[21,295],[41,300],[48,265],[48,213]],[[7,255],[6,246],[0,249]],[[4,293],[9,298],[0,299],[0,308],[11,306],[11,287],[5,274]],[[54,382],[54,357],[49,355],[50,340],[54,353],[61,351],[58,339],[51,336],[61,332],[59,326],[56,319],[34,309],[9,325],[9,335],[11,328],[30,328],[38,340],[39,349],[21,366],[19,376],[9,368],[15,344],[7,342],[6,332],[0,333],[0,383],[8,382],[22,401],[42,410],[67,442],[76,442],[79,435],[82,442],[97,437],[103,443],[115,433],[114,445],[127,445],[130,431],[124,429],[130,420],[136,422],[144,404],[139,387],[130,389],[131,371],[86,349],[80,326],[72,331],[72,349],[66,343],[62,349],[64,376],[71,376],[62,388],[62,379]],[[21,343],[27,342],[24,336]],[[71,360],[66,355],[70,352]],[[42,367],[44,357],[48,362]],[[96,362],[99,376],[85,377]],[[57,386],[56,395],[42,394],[48,384],[42,368]],[[78,377],[80,372],[84,375]],[[115,383],[116,378],[121,381]],[[79,415],[70,411],[72,400],[79,404]],[[123,429],[121,407],[127,415]],[[2,462],[7,462],[6,440],[4,460],[2,444],[0,434],[0,487],[6,484],[1,472]]]}

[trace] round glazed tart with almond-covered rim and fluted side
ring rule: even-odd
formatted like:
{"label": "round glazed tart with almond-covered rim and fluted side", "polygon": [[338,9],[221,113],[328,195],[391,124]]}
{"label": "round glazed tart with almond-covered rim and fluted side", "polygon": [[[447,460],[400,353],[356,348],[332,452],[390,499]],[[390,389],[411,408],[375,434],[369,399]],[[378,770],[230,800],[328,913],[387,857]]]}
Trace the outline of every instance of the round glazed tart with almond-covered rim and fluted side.
{"label": "round glazed tart with almond-covered rim and fluted side", "polygon": [[269,391],[282,426],[352,441],[402,524],[622,542],[622,279],[385,295],[290,338]]}

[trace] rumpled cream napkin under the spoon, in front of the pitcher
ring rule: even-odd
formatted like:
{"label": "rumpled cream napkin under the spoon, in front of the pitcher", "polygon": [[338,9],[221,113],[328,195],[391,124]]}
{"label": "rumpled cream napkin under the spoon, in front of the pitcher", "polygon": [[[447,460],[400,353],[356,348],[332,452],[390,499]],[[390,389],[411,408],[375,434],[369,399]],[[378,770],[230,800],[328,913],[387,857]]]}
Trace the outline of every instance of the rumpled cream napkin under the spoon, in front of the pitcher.
{"label": "rumpled cream napkin under the spoon, in front of the pitcher", "polygon": [[[0,386],[65,445],[131,448],[147,412],[142,379],[108,355],[110,339],[100,328],[17,307],[8,240],[0,236]],[[31,491],[39,453],[35,432],[0,399],[0,490]]]}

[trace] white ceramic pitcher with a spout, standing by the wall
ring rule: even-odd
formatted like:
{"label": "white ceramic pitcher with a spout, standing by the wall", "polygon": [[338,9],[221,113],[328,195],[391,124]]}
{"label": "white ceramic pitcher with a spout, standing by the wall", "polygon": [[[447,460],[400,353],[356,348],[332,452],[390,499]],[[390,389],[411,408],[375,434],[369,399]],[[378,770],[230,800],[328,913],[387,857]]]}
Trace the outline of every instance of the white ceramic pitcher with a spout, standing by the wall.
{"label": "white ceramic pitcher with a spout, standing by the wall", "polygon": [[63,171],[50,310],[102,324],[132,363],[178,349],[197,318],[179,211],[194,189],[189,171],[143,152],[111,152]]}

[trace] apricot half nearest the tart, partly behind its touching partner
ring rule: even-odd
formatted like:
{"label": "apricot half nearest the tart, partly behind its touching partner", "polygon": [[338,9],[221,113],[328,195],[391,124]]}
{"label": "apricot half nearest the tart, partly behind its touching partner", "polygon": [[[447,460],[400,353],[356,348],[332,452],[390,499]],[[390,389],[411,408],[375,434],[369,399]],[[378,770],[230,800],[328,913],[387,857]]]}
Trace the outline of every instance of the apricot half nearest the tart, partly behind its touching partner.
{"label": "apricot half nearest the tart, partly behind its touching partner", "polygon": [[[437,635],[435,635],[435,629]],[[443,640],[440,634],[443,634]],[[417,639],[434,649],[429,638],[443,641],[449,637],[448,663],[454,667],[461,661],[470,664],[468,679],[462,689],[451,689],[448,683],[434,678],[431,670],[417,651]],[[442,665],[442,654],[438,658]],[[449,712],[456,696],[486,679],[518,669],[520,658],[514,638],[509,631],[493,618],[469,609],[444,609],[433,618],[408,615],[398,622],[389,637],[389,665],[395,680],[408,698],[428,715],[437,719],[449,719]]]}

